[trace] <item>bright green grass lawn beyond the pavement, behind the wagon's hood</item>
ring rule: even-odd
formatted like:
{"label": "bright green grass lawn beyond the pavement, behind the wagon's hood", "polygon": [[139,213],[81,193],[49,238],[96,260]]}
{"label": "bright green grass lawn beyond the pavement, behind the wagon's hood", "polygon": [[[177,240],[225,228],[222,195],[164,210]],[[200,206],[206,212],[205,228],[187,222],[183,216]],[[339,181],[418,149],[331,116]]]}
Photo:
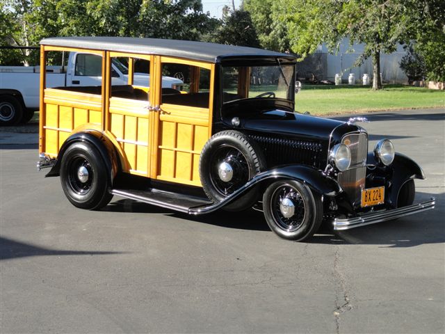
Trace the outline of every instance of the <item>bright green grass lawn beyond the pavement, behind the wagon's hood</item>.
{"label": "bright green grass lawn beyond the pavement, behind the wagon's hood", "polygon": [[444,90],[402,85],[373,91],[369,86],[303,84],[296,95],[296,111],[309,111],[312,115],[440,107],[445,108]]}

